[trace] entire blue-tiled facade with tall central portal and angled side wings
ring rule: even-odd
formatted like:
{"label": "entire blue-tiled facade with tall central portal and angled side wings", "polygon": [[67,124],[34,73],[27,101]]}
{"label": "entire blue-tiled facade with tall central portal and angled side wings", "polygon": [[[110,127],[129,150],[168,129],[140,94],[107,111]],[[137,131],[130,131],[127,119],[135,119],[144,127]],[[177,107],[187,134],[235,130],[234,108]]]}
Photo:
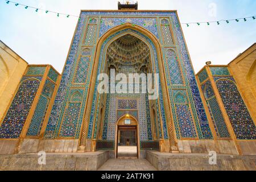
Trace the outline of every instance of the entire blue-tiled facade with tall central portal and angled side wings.
{"label": "entire blue-tiled facade with tall central portal and angled side wings", "polygon": [[[159,73],[159,97],[99,94],[97,76],[110,69]],[[176,11],[82,10],[62,75],[50,65],[24,71],[1,120],[0,143],[10,146],[1,153],[109,150],[114,158],[119,131],[133,130],[138,158],[255,154],[255,98],[233,75],[229,65],[195,75]]]}

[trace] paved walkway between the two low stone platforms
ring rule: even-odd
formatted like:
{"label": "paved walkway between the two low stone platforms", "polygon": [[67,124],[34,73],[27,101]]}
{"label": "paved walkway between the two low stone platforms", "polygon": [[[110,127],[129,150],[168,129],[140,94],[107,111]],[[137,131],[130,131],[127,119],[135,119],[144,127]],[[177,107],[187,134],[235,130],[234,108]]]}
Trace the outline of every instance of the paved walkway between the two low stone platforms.
{"label": "paved walkway between the two low stone platforms", "polygon": [[109,159],[98,171],[156,171],[146,159]]}

